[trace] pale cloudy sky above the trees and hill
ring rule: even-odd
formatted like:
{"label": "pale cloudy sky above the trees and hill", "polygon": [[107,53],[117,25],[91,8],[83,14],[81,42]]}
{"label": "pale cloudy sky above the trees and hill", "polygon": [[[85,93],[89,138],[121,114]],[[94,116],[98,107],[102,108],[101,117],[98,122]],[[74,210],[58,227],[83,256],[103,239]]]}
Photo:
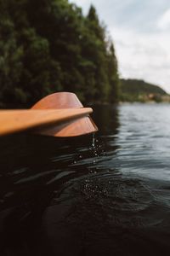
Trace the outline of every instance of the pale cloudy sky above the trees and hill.
{"label": "pale cloudy sky above the trees and hill", "polygon": [[119,73],[170,93],[170,0],[70,0],[97,9],[113,39]]}

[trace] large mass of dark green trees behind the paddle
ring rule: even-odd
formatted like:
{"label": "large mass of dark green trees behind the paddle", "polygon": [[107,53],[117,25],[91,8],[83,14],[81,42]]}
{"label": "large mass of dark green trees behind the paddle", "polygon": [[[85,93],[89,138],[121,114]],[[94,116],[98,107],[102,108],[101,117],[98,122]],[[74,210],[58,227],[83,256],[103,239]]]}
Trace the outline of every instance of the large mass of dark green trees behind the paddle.
{"label": "large mass of dark green trees behind the paddle", "polygon": [[0,0],[0,107],[26,108],[55,91],[116,102],[114,45],[91,6],[67,0]]}

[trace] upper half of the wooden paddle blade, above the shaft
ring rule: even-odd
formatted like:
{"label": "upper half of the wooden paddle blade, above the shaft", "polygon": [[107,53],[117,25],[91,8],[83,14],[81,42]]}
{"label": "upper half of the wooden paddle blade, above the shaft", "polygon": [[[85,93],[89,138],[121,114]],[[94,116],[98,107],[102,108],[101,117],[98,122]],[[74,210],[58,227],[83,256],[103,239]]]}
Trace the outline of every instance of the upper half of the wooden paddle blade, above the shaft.
{"label": "upper half of the wooden paddle blade, above the shaft", "polygon": [[42,98],[32,109],[59,109],[59,108],[83,108],[76,94],[71,92],[56,92]]}

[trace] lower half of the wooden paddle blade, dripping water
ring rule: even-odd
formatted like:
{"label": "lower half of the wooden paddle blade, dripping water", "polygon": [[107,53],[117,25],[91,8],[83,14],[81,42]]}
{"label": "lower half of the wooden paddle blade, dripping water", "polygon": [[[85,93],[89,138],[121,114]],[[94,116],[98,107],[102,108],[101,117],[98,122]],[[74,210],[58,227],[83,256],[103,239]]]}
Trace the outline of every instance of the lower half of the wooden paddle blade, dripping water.
{"label": "lower half of the wooden paddle blade, dripping water", "polygon": [[84,116],[79,119],[72,119],[60,125],[49,125],[47,127],[40,127],[33,132],[46,136],[53,137],[76,137],[98,131],[94,121]]}

